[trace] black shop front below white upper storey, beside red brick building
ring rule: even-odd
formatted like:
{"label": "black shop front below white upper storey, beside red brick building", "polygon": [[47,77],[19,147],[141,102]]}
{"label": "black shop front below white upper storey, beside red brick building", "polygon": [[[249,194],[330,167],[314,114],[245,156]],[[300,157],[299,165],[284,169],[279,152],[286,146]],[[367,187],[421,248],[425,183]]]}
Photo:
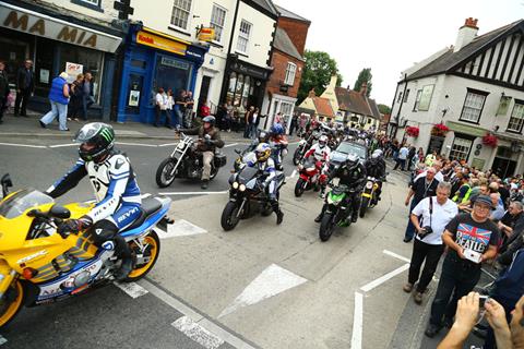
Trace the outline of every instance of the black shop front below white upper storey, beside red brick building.
{"label": "black shop front below white upper storey, beside red brick building", "polygon": [[231,106],[250,106],[262,110],[265,84],[272,70],[243,62],[233,53],[226,63],[221,100]]}

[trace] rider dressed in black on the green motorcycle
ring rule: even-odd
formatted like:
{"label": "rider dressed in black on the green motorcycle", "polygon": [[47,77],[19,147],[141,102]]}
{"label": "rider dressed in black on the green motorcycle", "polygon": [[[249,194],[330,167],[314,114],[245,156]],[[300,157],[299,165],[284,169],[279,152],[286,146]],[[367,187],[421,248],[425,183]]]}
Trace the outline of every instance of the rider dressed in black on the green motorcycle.
{"label": "rider dressed in black on the green motorcycle", "polygon": [[[352,205],[352,222],[356,222],[358,218],[358,209],[360,207],[360,192],[362,185],[366,182],[366,168],[359,161],[358,155],[350,153],[347,155],[346,161],[335,168],[333,172],[330,173],[327,182],[331,182],[332,179],[340,178],[340,183],[347,185],[349,189],[355,189],[355,192],[347,193],[346,196]],[[322,206],[322,212],[317,218],[315,222],[320,222],[324,216],[325,210],[327,209],[327,201]]]}

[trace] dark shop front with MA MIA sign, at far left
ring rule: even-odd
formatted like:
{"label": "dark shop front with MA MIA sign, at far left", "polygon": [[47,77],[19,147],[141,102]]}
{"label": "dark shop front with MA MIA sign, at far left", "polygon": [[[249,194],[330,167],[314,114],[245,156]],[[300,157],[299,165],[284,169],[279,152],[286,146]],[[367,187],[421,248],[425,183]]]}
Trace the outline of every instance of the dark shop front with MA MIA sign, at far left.
{"label": "dark shop front with MA MIA sign, at far left", "polygon": [[[34,61],[35,92],[28,108],[46,111],[52,79],[61,72],[69,82],[78,74],[91,72],[95,105],[90,117],[109,118],[116,56],[123,34],[109,26],[80,21],[55,13],[52,9],[31,9],[0,2],[0,60],[15,94],[19,68],[26,59]],[[14,96],[13,96],[14,97]]]}

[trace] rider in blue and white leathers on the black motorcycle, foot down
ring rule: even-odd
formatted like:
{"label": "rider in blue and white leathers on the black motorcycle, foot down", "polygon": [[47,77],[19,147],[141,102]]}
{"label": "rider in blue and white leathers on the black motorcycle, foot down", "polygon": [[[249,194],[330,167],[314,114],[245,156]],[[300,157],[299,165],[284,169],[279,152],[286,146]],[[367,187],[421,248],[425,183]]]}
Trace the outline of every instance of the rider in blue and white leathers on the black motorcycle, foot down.
{"label": "rider in blue and white leathers on the black motorcycle, foot down", "polygon": [[276,224],[282,224],[284,219],[284,213],[281,210],[278,205],[278,185],[277,185],[277,174],[275,161],[271,157],[271,147],[267,143],[261,143],[254,149],[255,158],[249,160],[246,165],[249,167],[257,168],[262,174],[263,185],[267,190],[270,196],[271,206],[273,212],[276,214]]}

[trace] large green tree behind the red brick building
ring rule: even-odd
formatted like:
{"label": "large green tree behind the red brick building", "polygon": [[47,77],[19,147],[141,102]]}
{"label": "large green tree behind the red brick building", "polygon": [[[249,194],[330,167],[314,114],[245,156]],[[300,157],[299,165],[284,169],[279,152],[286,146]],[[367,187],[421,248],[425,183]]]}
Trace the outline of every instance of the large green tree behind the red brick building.
{"label": "large green tree behind the red brick building", "polygon": [[336,86],[342,83],[342,75],[338,73],[336,61],[323,51],[309,51],[303,53],[306,60],[302,71],[302,80],[298,88],[298,103],[308,97],[311,88],[314,88],[317,96],[320,96],[330,84],[331,76],[336,74],[338,80]]}

